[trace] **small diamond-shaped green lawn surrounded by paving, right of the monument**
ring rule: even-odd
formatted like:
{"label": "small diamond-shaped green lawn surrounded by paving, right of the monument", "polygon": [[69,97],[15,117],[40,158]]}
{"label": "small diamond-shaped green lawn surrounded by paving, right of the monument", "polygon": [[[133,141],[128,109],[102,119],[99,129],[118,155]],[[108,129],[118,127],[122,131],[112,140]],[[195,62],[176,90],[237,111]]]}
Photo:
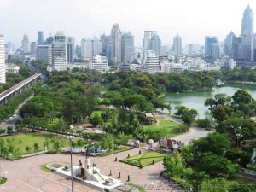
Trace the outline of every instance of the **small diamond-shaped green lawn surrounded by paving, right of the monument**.
{"label": "small diamond-shaped green lawn surrounded by paving, right of the monument", "polygon": [[164,160],[165,156],[168,154],[161,154],[159,152],[148,151],[143,154],[137,154],[135,156],[126,158],[125,160],[120,160],[121,162],[127,163],[131,166],[144,167],[152,165],[160,160]]}

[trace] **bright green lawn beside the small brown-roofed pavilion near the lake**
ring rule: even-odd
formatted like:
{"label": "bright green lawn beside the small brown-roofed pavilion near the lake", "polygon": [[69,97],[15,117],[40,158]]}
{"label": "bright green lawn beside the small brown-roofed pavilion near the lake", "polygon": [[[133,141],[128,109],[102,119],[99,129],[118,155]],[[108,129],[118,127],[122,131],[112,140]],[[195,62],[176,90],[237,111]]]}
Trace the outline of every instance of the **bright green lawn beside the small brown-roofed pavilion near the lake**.
{"label": "bright green lawn beside the small brown-roofed pavilion near the lake", "polygon": [[156,131],[166,128],[168,131],[168,137],[174,137],[180,134],[178,124],[176,122],[173,122],[160,116],[155,116],[155,119],[159,122],[158,125],[144,125],[143,129],[145,131]]}

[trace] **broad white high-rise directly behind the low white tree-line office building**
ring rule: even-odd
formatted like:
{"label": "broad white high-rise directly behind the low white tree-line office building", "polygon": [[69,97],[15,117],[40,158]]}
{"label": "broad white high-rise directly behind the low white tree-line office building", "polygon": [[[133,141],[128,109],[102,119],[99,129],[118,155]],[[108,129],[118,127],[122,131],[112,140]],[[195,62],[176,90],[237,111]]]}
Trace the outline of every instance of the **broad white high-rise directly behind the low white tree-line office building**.
{"label": "broad white high-rise directly behind the low white tree-line office building", "polygon": [[102,52],[102,42],[98,38],[83,38],[81,41],[81,57],[90,59]]}

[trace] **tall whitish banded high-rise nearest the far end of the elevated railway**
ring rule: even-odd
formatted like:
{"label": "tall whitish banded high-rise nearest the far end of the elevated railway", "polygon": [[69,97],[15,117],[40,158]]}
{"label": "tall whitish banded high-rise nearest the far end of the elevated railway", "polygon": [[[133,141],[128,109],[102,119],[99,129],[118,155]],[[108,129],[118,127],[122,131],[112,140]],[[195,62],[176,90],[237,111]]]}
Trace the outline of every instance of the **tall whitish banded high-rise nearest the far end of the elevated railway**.
{"label": "tall whitish banded high-rise nearest the far end of the elevated railway", "polygon": [[55,32],[53,43],[49,45],[49,71],[67,69],[67,39],[64,32]]}

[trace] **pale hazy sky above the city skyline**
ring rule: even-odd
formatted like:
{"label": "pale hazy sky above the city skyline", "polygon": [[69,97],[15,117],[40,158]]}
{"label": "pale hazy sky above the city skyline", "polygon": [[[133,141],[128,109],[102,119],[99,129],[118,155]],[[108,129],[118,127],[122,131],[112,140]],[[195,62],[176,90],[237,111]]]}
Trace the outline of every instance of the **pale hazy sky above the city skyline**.
{"label": "pale hazy sky above the city skyline", "polygon": [[36,41],[39,30],[44,38],[65,31],[80,44],[82,38],[109,34],[113,23],[119,23],[137,46],[142,46],[144,30],[158,31],[165,45],[172,45],[177,33],[183,46],[204,44],[206,35],[220,41],[231,30],[239,35],[248,4],[255,18],[255,0],[0,0],[0,34],[15,48],[25,33]]}

